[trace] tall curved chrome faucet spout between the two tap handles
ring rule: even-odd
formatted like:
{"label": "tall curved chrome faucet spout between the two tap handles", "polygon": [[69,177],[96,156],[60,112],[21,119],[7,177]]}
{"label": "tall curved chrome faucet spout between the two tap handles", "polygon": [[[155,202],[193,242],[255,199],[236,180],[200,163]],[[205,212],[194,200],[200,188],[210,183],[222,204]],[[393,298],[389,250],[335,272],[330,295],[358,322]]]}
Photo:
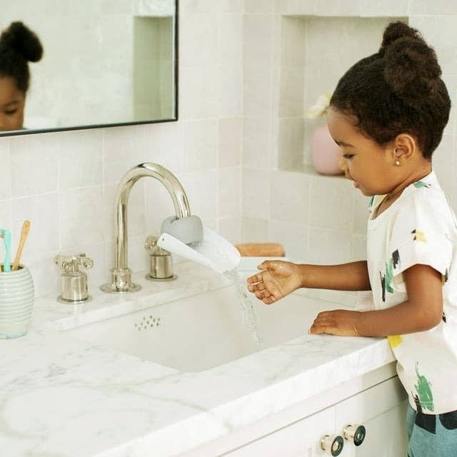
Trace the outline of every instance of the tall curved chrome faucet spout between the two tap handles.
{"label": "tall curved chrome faucet spout between the two tap handles", "polygon": [[[183,186],[181,186],[181,183],[176,179],[174,174],[171,174],[169,170],[158,164],[146,163],[134,166],[121,179],[116,191],[116,258],[114,268],[111,268],[111,283],[103,284],[100,287],[104,292],[125,293],[135,292],[141,289],[139,284],[131,282],[131,269],[127,266],[127,203],[132,186],[144,176],[158,179],[164,184],[166,190],[169,191],[176,211],[176,218],[169,219],[179,220],[189,218],[193,222],[197,221],[197,225],[200,224],[201,226],[200,219],[197,216],[191,216],[186,192],[184,192]],[[193,241],[199,241],[199,229],[196,232],[194,231],[194,233],[197,234],[192,235],[196,237]]]}

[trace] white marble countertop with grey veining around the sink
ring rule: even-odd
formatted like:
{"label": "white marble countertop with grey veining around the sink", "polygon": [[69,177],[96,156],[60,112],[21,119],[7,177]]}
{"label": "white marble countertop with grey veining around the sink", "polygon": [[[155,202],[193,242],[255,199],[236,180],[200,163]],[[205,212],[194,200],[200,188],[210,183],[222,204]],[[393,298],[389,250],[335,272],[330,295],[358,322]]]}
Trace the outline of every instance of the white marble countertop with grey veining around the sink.
{"label": "white marble countertop with grey veining around the sink", "polygon": [[[0,446],[9,457],[176,456],[229,435],[394,358],[385,339],[312,336],[197,373],[95,346],[75,325],[221,286],[207,268],[86,305],[36,298],[29,333],[0,340]],[[336,306],[337,307],[337,306]]]}

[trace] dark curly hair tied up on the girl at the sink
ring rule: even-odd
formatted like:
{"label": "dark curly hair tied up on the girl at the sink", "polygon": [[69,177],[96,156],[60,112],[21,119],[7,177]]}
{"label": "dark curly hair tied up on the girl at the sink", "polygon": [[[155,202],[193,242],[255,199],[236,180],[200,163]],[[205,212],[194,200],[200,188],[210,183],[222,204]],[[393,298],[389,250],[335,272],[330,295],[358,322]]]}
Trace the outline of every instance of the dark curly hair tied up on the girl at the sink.
{"label": "dark curly hair tied up on the girl at the sink", "polygon": [[388,24],[381,48],[361,59],[338,81],[330,106],[355,116],[356,126],[383,146],[398,134],[416,138],[431,159],[443,136],[451,99],[436,54],[403,22]]}

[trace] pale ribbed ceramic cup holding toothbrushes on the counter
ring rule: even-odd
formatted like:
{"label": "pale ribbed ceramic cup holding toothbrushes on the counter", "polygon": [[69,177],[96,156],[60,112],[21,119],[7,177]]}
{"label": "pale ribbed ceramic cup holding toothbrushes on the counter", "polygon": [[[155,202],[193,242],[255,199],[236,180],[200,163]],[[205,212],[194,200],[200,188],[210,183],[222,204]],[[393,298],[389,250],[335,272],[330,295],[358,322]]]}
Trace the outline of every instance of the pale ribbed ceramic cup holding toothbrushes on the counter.
{"label": "pale ribbed ceramic cup holding toothbrushes on the counter", "polygon": [[24,336],[34,306],[34,281],[29,268],[0,273],[0,338]]}

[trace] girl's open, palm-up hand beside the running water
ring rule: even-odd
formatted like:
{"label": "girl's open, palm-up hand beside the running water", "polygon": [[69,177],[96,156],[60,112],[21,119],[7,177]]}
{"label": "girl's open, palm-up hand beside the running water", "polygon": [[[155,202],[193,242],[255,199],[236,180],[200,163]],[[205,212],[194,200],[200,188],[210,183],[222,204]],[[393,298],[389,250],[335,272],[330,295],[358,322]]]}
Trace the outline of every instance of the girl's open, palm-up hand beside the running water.
{"label": "girl's open, palm-up hand beside the running water", "polygon": [[247,278],[248,290],[267,305],[301,287],[300,268],[296,263],[265,261],[257,268],[263,271]]}

